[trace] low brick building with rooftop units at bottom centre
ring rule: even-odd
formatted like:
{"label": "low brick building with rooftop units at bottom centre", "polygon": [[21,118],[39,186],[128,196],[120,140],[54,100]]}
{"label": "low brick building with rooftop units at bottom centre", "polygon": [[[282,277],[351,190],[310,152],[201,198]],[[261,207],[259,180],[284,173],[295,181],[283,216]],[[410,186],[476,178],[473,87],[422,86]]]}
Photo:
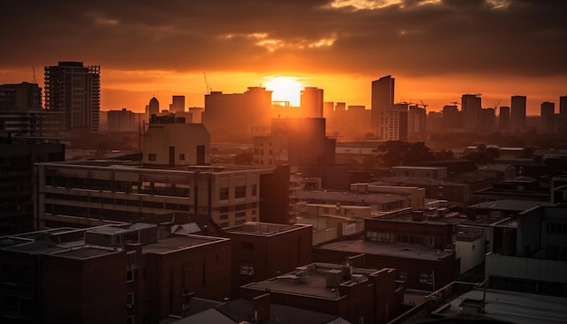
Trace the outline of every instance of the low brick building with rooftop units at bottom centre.
{"label": "low brick building with rooftop units at bottom centre", "polygon": [[399,315],[395,269],[311,263],[241,288],[245,299],[269,293],[272,302],[332,314],[351,323],[387,323]]}

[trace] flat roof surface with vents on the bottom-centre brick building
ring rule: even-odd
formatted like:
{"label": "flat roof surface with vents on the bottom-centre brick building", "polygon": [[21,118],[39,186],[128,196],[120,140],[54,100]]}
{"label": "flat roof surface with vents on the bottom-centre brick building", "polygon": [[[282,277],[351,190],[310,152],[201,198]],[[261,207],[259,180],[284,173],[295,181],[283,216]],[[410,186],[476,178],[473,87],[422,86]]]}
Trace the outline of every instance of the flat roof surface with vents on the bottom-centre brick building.
{"label": "flat roof surface with vents on the bottom-centre brick building", "polygon": [[[358,284],[352,280],[342,278],[342,266],[327,263],[312,263],[307,265],[302,275],[290,272],[266,281],[257,281],[246,284],[245,287],[259,291],[274,291],[303,296],[312,296],[328,300],[339,300],[341,294],[338,285],[327,287],[327,276],[334,272],[339,278],[339,285]],[[377,270],[353,268],[352,274],[360,275],[360,282],[368,281],[369,275]]]}

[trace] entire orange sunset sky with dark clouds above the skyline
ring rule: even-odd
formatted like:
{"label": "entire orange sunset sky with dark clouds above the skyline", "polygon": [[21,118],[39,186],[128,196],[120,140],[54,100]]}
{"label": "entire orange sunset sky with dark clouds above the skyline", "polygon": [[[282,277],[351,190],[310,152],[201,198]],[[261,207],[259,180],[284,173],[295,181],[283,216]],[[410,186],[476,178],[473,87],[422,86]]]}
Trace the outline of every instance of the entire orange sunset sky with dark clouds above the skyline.
{"label": "entire orange sunset sky with dark clouds above the skyline", "polygon": [[[391,74],[396,100],[441,110],[463,93],[483,106],[567,95],[567,1],[20,0],[0,12],[0,83],[60,61],[101,65],[102,110],[142,111],[155,95],[203,106],[208,86],[244,92],[278,76],[370,108]],[[274,98],[277,100],[279,98]]]}

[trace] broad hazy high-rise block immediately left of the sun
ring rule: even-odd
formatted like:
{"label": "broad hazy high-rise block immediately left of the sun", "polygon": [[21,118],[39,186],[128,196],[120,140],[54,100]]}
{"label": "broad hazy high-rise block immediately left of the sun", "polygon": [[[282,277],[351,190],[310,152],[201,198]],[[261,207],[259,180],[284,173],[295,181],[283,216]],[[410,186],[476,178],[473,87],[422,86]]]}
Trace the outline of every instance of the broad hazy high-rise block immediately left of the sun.
{"label": "broad hazy high-rise block immediately left of the sun", "polygon": [[214,141],[235,142],[265,135],[270,129],[272,91],[249,87],[245,93],[205,95],[203,124]]}

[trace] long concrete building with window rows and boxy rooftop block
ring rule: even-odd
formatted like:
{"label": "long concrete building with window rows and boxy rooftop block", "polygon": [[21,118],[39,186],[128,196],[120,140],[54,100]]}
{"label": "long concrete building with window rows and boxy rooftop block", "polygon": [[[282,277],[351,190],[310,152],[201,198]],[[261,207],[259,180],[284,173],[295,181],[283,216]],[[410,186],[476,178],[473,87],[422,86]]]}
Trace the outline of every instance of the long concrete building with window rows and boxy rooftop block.
{"label": "long concrete building with window rows and boxy rooftop block", "polygon": [[284,196],[278,191],[276,168],[207,166],[202,124],[153,123],[144,142],[141,161],[39,164],[37,227],[137,222],[175,212],[229,227],[259,221],[261,206],[287,218],[287,189]]}

